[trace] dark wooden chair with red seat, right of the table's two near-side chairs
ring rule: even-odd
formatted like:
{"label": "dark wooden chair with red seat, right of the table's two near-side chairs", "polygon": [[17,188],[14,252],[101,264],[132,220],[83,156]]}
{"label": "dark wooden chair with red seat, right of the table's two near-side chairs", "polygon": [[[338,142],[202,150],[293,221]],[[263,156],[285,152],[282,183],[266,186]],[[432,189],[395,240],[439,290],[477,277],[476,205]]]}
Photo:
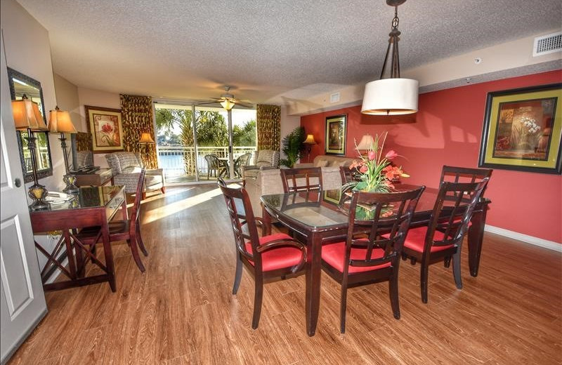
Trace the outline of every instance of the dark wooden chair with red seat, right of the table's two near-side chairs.
{"label": "dark wooden chair with red seat, right of the table's two near-side chairs", "polygon": [[449,266],[457,288],[462,289],[460,256],[474,207],[488,184],[489,177],[479,183],[450,183],[443,181],[429,224],[409,230],[402,250],[403,259],[410,258],[412,265],[421,264],[421,301],[427,303],[429,265],[443,261]]}

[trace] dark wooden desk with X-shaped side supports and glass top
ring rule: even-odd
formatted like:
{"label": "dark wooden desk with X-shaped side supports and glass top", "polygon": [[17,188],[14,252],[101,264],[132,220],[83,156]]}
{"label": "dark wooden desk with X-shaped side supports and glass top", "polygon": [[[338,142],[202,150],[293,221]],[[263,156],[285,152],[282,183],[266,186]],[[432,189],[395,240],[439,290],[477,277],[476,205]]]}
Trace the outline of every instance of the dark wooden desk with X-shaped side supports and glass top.
{"label": "dark wooden desk with X-shaped side supports and glass top", "polygon": [[[72,199],[59,204],[51,203],[47,211],[30,212],[34,234],[42,232],[62,232],[58,243],[51,252],[35,242],[37,250],[48,258],[41,270],[41,281],[45,291],[72,288],[107,281],[112,291],[116,291],[113,253],[109,239],[107,221],[122,208],[123,218],[127,218],[125,188],[123,186],[80,187]],[[89,245],[84,245],[74,236],[83,227],[100,227],[105,263],[92,253]],[[63,252],[63,247],[65,252]],[[63,260],[68,264],[63,265]],[[86,277],[86,264],[97,265],[103,274]],[[60,270],[66,281],[57,280],[47,284],[53,270]],[[63,276],[61,275],[61,277]]]}

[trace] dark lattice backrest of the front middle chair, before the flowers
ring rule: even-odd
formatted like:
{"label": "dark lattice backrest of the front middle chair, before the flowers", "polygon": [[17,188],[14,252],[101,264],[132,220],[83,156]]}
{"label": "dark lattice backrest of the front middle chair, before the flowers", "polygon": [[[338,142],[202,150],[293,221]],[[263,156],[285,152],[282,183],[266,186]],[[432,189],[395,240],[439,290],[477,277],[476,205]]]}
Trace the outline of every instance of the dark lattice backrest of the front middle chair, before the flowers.
{"label": "dark lattice backrest of the front middle chair, before the flowers", "polygon": [[[344,274],[349,266],[398,265],[412,214],[424,189],[421,186],[407,192],[353,192]],[[351,258],[352,247],[364,248],[365,256]]]}

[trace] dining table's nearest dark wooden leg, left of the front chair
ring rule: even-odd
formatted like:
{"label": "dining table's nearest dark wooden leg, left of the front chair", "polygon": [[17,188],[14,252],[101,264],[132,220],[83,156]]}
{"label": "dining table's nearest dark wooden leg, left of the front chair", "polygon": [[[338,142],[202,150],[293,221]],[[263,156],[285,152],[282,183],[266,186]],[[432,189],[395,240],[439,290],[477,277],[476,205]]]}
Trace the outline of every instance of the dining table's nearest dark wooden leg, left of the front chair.
{"label": "dining table's nearest dark wooden leg, left of the front chair", "polygon": [[320,309],[320,278],[322,275],[322,237],[312,232],[306,243],[306,332],[314,336]]}

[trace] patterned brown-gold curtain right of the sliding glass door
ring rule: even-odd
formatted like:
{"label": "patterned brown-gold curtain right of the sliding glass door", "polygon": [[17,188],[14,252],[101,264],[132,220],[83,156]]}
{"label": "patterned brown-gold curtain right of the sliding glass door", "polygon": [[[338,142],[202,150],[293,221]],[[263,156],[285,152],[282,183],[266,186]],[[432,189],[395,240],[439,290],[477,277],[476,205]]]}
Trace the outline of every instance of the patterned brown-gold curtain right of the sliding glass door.
{"label": "patterned brown-gold curtain right of the sliding glass door", "polygon": [[281,107],[258,104],[256,114],[258,150],[279,151],[281,141]]}

